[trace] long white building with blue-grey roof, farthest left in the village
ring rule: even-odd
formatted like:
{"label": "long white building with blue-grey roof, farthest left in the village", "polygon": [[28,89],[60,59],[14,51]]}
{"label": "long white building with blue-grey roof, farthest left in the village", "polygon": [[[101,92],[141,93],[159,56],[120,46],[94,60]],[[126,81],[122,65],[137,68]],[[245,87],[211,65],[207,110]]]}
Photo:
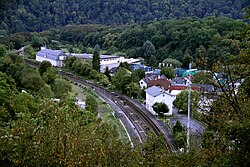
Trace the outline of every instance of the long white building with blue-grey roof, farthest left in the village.
{"label": "long white building with blue-grey roof, farthest left in the village", "polygon": [[66,57],[67,55],[61,50],[51,50],[41,47],[41,50],[36,54],[36,61],[49,61],[53,66],[62,67]]}

